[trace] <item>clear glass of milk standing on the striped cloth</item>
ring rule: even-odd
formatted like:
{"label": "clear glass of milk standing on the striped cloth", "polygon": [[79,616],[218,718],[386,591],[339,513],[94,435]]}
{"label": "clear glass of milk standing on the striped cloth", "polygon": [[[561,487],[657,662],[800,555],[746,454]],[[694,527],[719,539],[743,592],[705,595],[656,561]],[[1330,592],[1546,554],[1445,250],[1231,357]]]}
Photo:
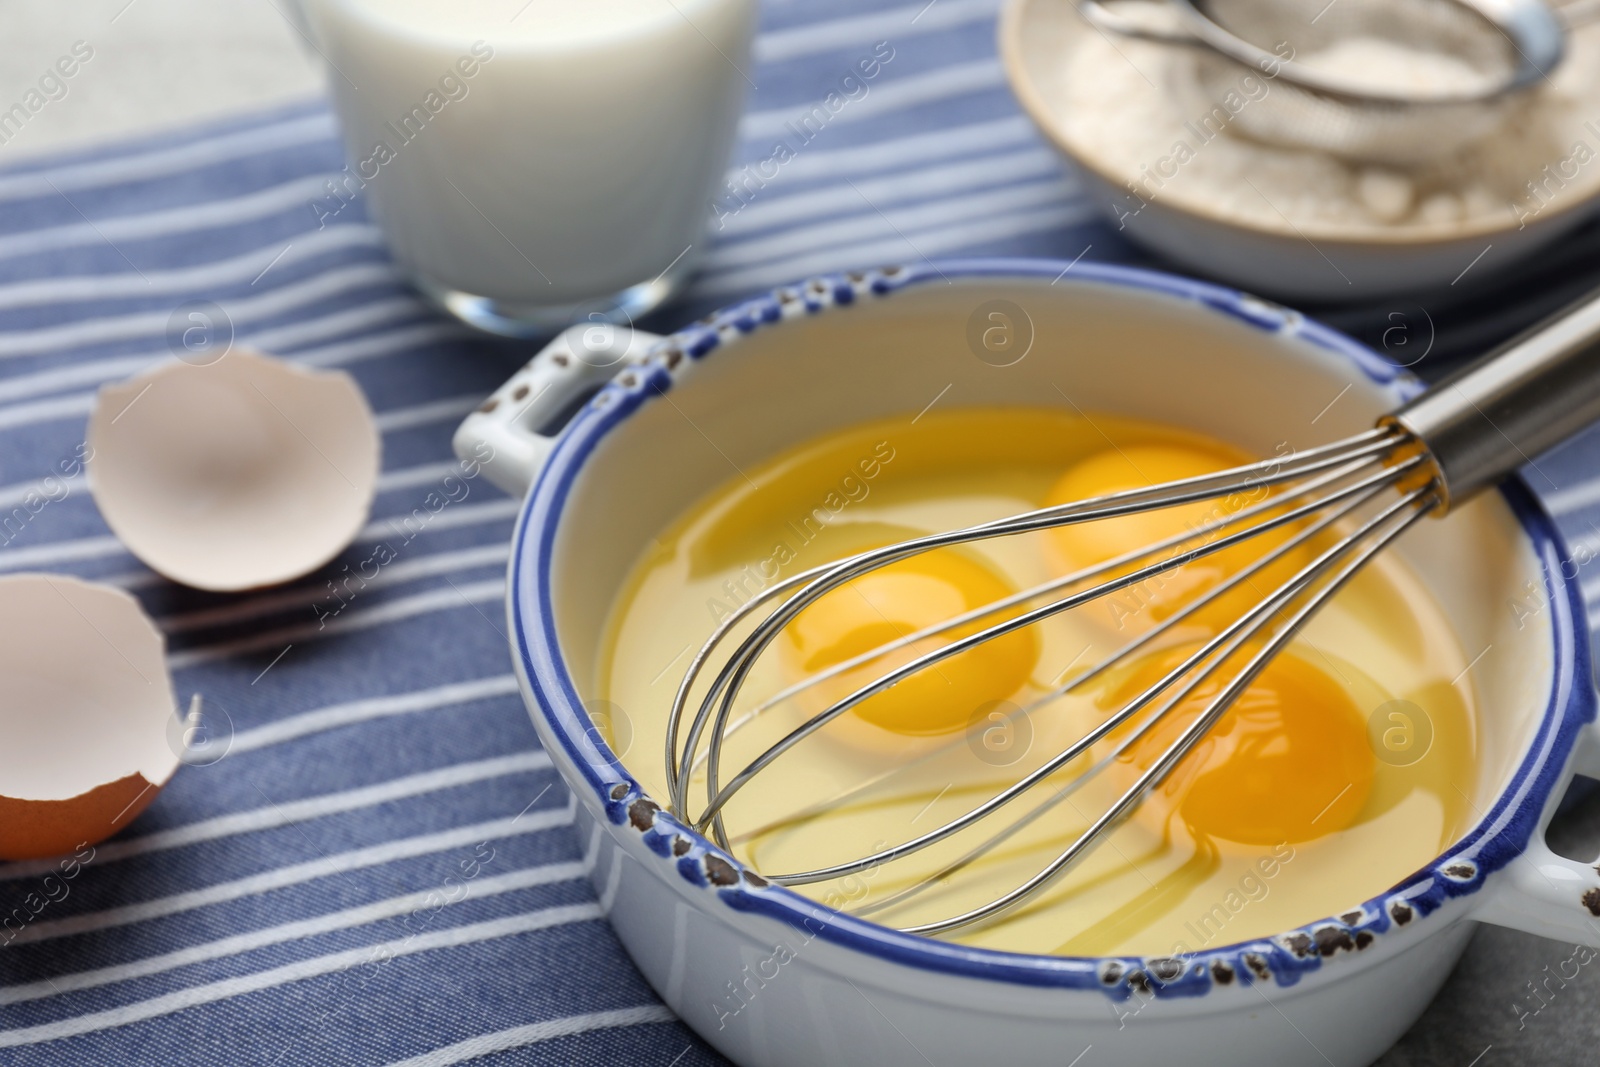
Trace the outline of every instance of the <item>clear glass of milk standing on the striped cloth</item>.
{"label": "clear glass of milk standing on the striped cloth", "polygon": [[301,0],[347,168],[395,259],[480,328],[626,322],[704,242],[755,0]]}

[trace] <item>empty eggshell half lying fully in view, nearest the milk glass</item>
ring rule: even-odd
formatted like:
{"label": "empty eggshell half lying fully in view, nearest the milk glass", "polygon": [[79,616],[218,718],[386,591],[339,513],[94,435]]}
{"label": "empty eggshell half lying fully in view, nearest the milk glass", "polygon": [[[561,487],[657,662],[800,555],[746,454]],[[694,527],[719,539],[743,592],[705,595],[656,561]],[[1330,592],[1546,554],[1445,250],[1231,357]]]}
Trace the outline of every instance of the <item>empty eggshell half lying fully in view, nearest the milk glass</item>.
{"label": "empty eggshell half lying fully in view, nearest the milk glass", "polygon": [[90,490],[150,569],[213,592],[315,571],[366,523],[379,435],[355,379],[234,349],[99,392]]}

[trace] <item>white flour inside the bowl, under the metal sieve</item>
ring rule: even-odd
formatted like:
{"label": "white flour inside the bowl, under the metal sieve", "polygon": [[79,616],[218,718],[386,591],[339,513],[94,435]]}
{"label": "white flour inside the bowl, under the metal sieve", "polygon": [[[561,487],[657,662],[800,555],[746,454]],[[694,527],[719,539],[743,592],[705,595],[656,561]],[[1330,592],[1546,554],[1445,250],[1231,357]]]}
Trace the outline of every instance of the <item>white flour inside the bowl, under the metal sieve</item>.
{"label": "white flour inside the bowl, under the metal sieve", "polygon": [[[1354,40],[1325,50],[1320,61],[1342,67],[1370,59],[1371,50]],[[1478,77],[1453,59],[1435,59],[1414,75],[1434,88],[1459,82],[1462,70]],[[1453,158],[1405,170],[1251,141],[1232,123],[1202,125],[1205,107],[1181,90],[1192,69],[1182,64],[1192,62],[1187,50],[1085,32],[1059,67],[1053,90],[1061,131],[1085,162],[1128,186],[1130,211],[1158,200],[1274,230],[1288,222],[1349,235],[1526,222],[1600,186],[1600,35],[1594,32],[1573,35],[1552,83],[1531,93],[1501,130]],[[1245,75],[1227,110],[1258,107],[1272,91],[1270,78]]]}

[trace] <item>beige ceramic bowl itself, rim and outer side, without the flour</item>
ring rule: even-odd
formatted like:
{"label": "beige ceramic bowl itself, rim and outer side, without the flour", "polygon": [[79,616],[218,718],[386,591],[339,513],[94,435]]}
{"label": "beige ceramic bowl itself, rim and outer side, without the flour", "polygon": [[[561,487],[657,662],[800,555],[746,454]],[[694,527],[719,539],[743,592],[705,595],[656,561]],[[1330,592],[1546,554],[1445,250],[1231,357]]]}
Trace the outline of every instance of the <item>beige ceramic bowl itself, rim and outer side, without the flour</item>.
{"label": "beige ceramic bowl itself, rim and outer side, without the flour", "polygon": [[[1075,144],[1066,114],[1067,62],[1094,27],[1070,0],[1010,0],[1000,19],[1000,54],[1024,110],[1072,163],[1088,195],[1136,242],[1176,262],[1258,293],[1302,301],[1362,299],[1450,286],[1469,267],[1483,277],[1526,259],[1590,218],[1600,198],[1600,166],[1579,168],[1563,200],[1525,224],[1504,214],[1445,224],[1330,226],[1245,221],[1205,211],[1192,198],[1155,197],[1136,213],[1130,174]],[[1134,54],[1141,42],[1117,42]],[[1222,134],[1229,136],[1229,134]],[[1590,147],[1597,147],[1590,138]],[[1566,146],[1571,147],[1571,146]],[[1530,178],[1557,160],[1528,162]],[[1154,160],[1152,160],[1154,163]],[[1474,278],[1477,280],[1477,278]]]}

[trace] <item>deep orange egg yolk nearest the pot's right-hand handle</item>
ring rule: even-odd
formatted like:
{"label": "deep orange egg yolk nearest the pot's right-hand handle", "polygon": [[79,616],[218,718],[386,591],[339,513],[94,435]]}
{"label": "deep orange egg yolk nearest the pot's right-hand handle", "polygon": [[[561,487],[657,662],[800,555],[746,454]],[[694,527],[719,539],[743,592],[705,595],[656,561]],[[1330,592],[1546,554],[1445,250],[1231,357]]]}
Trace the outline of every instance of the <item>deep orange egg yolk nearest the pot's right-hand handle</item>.
{"label": "deep orange egg yolk nearest the pot's right-hand handle", "polygon": [[[1122,707],[1195,648],[1147,656],[1109,685],[1099,704],[1106,710]],[[1235,656],[1224,664],[1118,757],[1126,784],[1160,758],[1242,661]],[[1141,813],[1147,809],[1144,817],[1163,824],[1176,813],[1198,835],[1242,845],[1307,841],[1355,822],[1374,769],[1366,723],[1344,686],[1285,651],[1146,797]]]}

